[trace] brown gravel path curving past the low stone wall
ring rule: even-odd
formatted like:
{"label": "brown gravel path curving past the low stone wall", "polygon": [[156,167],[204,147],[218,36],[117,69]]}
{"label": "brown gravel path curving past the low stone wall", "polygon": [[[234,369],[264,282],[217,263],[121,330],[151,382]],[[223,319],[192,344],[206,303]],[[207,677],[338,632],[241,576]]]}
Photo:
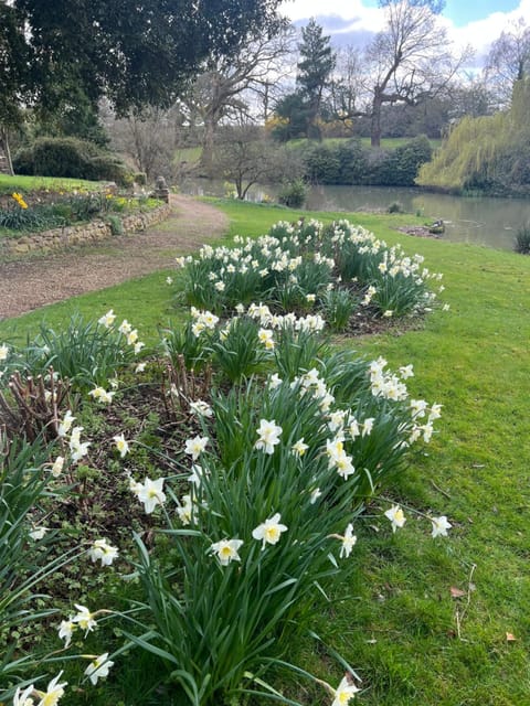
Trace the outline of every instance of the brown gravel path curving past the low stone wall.
{"label": "brown gravel path curving past the low stone wall", "polygon": [[227,231],[227,217],[189,196],[171,195],[168,221],[98,245],[0,263],[0,320],[75,295],[174,266],[174,257]]}

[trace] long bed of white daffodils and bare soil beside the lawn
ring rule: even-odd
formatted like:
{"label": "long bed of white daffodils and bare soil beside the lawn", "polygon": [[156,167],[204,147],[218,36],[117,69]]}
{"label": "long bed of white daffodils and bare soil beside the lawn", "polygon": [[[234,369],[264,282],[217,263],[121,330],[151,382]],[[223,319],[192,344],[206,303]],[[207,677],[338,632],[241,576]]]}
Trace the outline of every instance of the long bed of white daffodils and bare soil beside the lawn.
{"label": "long bed of white daffodils and bare soil beside the lawn", "polygon": [[[384,287],[380,265],[393,277],[395,250],[369,238],[373,261],[352,263],[338,232],[329,244],[318,229],[318,243],[340,245],[342,284],[346,271],[362,276],[362,298],[375,287],[370,277]],[[349,227],[340,232],[352,243]],[[271,306],[263,301],[272,287],[258,289],[258,303],[225,299],[232,285],[219,267],[208,287],[222,315],[193,307],[187,324],[161,331],[150,351],[129,322],[116,325],[112,310],[97,322],[75,318],[60,333],[43,327],[22,349],[0,346],[1,492],[10,513],[0,520],[0,538],[9,536],[0,542],[2,640],[18,634],[0,666],[11,683],[3,700],[56,703],[67,692],[75,704],[118,670],[141,668],[142,653],[153,664],[144,673],[146,693],[156,688],[160,703],[209,706],[261,694],[296,705],[267,674],[314,678],[288,663],[289,644],[310,629],[329,582],[356,570],[365,504],[404,470],[411,447],[430,441],[441,408],[410,397],[412,366],[390,371],[382,357],[337,352],[325,309],[299,311],[324,301],[322,277],[337,277],[338,265],[316,258],[298,233],[299,255],[290,236],[285,248],[267,236],[222,258],[236,276],[229,265],[250,255],[245,265],[261,282],[252,248],[263,257],[274,249],[274,261],[286,261],[274,276],[279,289],[299,285],[315,264],[319,287],[303,289],[305,299],[297,293],[296,312],[282,309],[276,293]],[[367,237],[358,247],[368,247]],[[190,260],[190,281],[198,281],[195,265],[220,256],[204,249]],[[266,269],[278,271],[273,265]],[[432,303],[423,284],[420,301]],[[380,311],[372,315],[384,320]],[[428,520],[433,537],[447,534],[444,515]],[[390,504],[370,522],[395,532],[405,515]],[[32,598],[35,587],[49,597]],[[36,620],[47,625],[43,642]],[[36,681],[43,663],[54,675],[46,691]],[[322,702],[347,704],[362,691],[362,670],[342,666],[342,680],[316,680],[328,693]],[[102,703],[109,700],[110,692]]]}

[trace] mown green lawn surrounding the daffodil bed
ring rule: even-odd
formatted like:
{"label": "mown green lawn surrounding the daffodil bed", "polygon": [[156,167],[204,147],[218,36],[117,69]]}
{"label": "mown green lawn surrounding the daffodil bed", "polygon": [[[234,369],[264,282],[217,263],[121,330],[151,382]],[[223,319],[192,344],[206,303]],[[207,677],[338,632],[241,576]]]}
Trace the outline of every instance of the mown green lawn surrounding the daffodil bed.
{"label": "mown green lawn surrounding the daffodil bed", "polygon": [[[230,216],[232,234],[262,234],[299,215],[215,203]],[[393,500],[446,514],[453,530],[448,539],[433,541],[405,510],[405,527],[392,535],[370,520],[369,507],[356,527],[357,578],[337,586],[332,602],[319,603],[316,632],[357,668],[367,689],[359,703],[365,706],[530,704],[530,259],[392,232],[392,224],[411,223],[411,216],[337,215],[421,253],[427,267],[445,274],[448,313],[432,314],[421,329],[394,328],[343,344],[384,355],[392,366],[413,363],[413,394],[444,405],[439,435],[416,452]],[[140,333],[153,331],[172,312],[166,276],[157,272],[2,321],[0,342],[13,331],[34,330],[43,313],[59,327],[74,309],[96,317],[114,307]],[[452,597],[452,588],[463,595]],[[311,644],[294,644],[292,661],[299,655],[309,671],[340,676]],[[321,703],[317,692],[303,696],[289,684],[285,689],[307,704]]]}

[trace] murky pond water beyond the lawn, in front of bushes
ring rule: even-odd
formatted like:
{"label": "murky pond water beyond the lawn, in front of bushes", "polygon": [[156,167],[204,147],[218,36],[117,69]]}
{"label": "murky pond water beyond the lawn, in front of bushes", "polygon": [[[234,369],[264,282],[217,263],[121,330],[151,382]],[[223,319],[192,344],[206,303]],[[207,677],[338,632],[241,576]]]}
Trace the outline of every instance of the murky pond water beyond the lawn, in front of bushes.
{"label": "murky pond water beyond the lawn, in front of bushes", "polygon": [[[222,181],[189,180],[181,184],[183,193],[222,196]],[[274,199],[274,186],[255,186],[250,201]],[[513,249],[517,231],[530,223],[530,199],[491,199],[487,196],[452,196],[420,189],[392,186],[312,186],[308,190],[308,211],[386,211],[400,202],[406,213],[425,216],[431,223],[442,218],[445,233],[441,238],[474,243],[501,249]]]}

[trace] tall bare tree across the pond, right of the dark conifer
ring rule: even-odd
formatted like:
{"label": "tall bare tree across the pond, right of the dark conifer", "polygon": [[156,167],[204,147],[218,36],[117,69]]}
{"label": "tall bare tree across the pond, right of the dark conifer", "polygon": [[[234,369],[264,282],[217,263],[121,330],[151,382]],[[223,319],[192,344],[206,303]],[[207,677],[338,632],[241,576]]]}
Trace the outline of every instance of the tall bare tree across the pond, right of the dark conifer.
{"label": "tall bare tree across the pond, right of the dark conifer", "polygon": [[356,115],[371,119],[371,143],[381,141],[381,109],[385,104],[417,105],[438,95],[470,56],[459,54],[437,19],[441,0],[380,0],[385,28],[367,50],[363,79],[368,105]]}

